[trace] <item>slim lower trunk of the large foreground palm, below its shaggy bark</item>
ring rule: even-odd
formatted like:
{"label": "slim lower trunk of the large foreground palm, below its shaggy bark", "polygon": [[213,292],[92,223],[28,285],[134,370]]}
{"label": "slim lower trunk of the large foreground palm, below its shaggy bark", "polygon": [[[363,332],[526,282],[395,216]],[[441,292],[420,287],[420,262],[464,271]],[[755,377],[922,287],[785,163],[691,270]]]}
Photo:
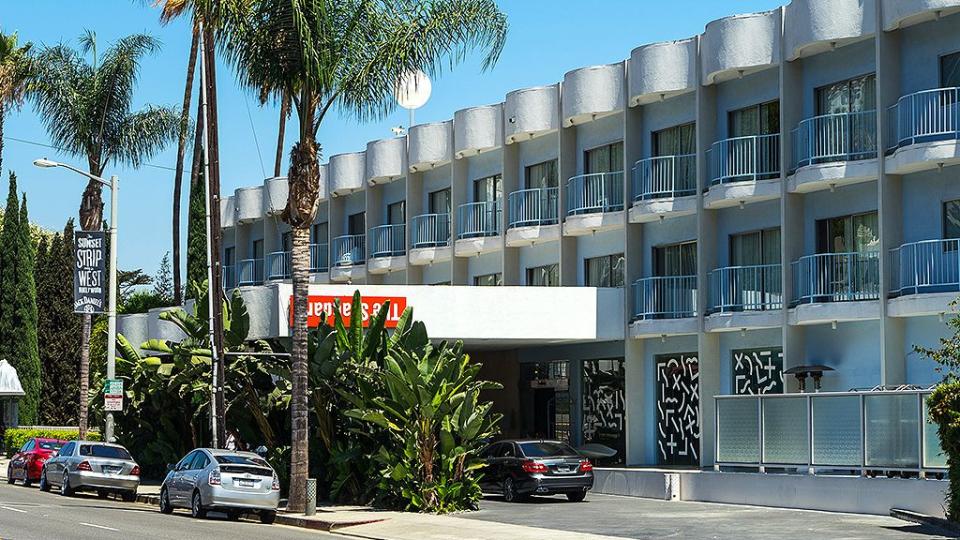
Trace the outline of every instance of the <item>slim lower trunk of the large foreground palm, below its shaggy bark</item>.
{"label": "slim lower trunk of the large foreground palm, below its shaggy bark", "polygon": [[290,492],[287,509],[303,512],[310,470],[309,403],[307,399],[307,295],[310,292],[310,229],[293,229],[290,254],[293,274],[293,347],[290,354],[293,392],[290,398]]}

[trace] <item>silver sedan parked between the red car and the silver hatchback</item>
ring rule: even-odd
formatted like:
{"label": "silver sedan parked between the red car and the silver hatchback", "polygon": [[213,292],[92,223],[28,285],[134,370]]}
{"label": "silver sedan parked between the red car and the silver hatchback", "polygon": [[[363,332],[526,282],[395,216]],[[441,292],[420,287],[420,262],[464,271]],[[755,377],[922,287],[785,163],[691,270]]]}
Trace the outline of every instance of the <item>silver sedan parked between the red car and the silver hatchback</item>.
{"label": "silver sedan parked between the red car and the silver hatchback", "polygon": [[140,486],[140,466],[119,444],[70,441],[40,471],[40,490],[50,491],[54,485],[67,497],[77,491],[96,491],[101,497],[119,493],[132,502]]}

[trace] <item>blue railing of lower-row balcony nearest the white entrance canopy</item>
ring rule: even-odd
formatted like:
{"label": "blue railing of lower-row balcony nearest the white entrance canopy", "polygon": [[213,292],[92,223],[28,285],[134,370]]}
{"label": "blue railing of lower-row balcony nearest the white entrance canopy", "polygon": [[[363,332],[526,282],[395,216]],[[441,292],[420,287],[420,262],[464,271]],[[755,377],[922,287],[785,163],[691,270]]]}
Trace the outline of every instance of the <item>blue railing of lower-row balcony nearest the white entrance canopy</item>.
{"label": "blue railing of lower-row balcony nearest the white entrance canopy", "polygon": [[696,316],[696,276],[650,277],[633,283],[634,320]]}

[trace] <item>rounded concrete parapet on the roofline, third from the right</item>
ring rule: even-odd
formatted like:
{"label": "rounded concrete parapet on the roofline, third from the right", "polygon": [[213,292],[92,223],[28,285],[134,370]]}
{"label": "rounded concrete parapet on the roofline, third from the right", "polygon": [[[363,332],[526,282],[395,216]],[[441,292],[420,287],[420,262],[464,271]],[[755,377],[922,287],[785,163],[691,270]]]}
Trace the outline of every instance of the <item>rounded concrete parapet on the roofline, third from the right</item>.
{"label": "rounded concrete parapet on the roofline, third from the right", "polygon": [[703,84],[779,64],[780,9],[711,21],[703,33],[700,52]]}

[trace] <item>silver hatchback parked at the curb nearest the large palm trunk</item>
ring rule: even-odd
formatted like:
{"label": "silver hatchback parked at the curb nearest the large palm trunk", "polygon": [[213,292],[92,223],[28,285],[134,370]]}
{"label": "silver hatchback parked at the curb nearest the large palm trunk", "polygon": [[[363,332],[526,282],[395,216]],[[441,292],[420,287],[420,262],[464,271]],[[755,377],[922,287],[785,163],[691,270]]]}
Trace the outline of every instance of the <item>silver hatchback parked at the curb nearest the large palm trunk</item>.
{"label": "silver hatchback parked at the curb nearest the large palm trunk", "polygon": [[160,486],[160,511],[189,508],[195,518],[207,511],[231,519],[256,513],[273,523],[280,504],[280,480],[266,460],[252,452],[198,448],[170,465]]}

